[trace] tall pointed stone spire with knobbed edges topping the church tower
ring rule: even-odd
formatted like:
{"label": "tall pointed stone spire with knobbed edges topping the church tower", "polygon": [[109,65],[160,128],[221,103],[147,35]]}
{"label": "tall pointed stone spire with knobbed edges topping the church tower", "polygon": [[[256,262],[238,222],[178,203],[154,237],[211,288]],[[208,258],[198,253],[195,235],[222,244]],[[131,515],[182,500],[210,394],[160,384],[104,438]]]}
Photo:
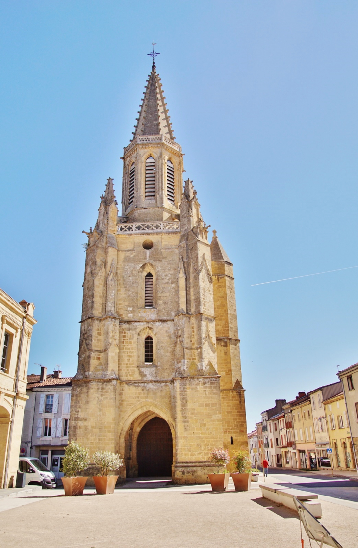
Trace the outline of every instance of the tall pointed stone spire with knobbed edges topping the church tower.
{"label": "tall pointed stone spire with knobbed edges topping the church tower", "polygon": [[135,139],[143,135],[165,135],[175,139],[171,129],[170,116],[166,108],[165,96],[161,87],[159,74],[155,70],[153,61],[152,72],[148,75],[147,86],[144,92],[140,115],[133,133]]}

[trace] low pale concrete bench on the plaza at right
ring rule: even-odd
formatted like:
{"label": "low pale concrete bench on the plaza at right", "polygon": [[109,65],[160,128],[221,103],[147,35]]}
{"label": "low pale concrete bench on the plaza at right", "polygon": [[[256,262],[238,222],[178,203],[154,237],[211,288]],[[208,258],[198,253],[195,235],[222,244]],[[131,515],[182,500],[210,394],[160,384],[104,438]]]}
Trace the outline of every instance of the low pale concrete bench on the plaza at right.
{"label": "low pale concrete bench on the plaza at right", "polygon": [[265,499],[274,501],[274,503],[282,504],[292,510],[296,510],[293,497],[295,496],[303,506],[307,508],[314,515],[314,517],[322,517],[322,506],[319,503],[318,495],[315,493],[309,493],[308,491],[301,491],[300,489],[292,489],[290,487],[280,486],[274,483],[260,483],[262,496]]}

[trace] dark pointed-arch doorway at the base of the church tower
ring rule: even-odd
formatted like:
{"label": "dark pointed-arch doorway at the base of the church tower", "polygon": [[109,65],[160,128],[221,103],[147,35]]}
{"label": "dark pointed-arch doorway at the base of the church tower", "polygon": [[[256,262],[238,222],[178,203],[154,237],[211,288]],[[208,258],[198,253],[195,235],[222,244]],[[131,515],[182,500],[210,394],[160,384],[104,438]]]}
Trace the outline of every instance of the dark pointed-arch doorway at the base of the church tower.
{"label": "dark pointed-arch doorway at the base of the church tower", "polygon": [[169,424],[155,416],[138,434],[138,477],[171,476],[172,460],[173,440]]}

